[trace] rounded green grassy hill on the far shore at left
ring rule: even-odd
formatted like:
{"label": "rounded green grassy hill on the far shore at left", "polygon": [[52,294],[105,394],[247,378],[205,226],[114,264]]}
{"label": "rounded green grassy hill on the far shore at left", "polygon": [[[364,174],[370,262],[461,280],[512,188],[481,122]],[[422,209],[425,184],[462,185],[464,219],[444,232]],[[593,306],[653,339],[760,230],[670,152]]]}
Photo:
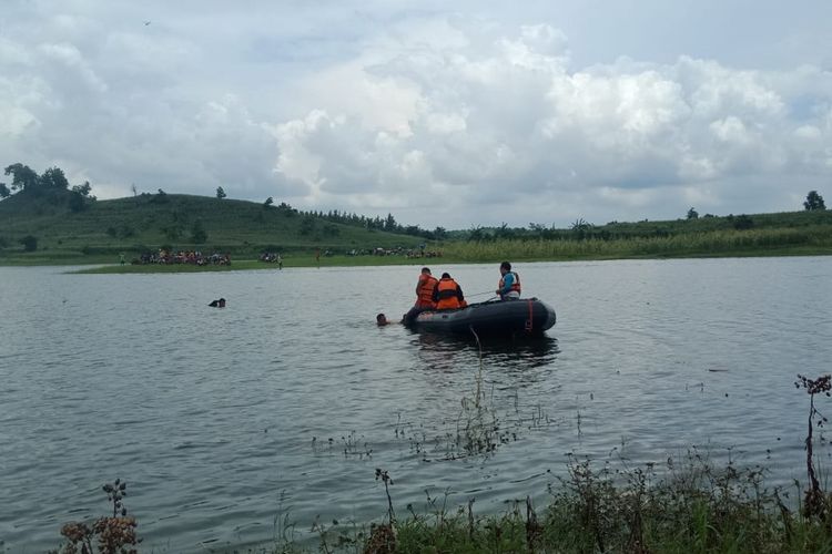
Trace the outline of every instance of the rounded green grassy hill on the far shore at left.
{"label": "rounded green grassy hill on the far shore at left", "polygon": [[[33,252],[21,240],[37,239]],[[113,261],[166,246],[253,258],[331,249],[412,248],[417,237],[341,225],[288,207],[180,194],[89,202],[78,212],[61,195],[19,193],[0,202],[0,261]],[[81,259],[79,259],[81,258]]]}

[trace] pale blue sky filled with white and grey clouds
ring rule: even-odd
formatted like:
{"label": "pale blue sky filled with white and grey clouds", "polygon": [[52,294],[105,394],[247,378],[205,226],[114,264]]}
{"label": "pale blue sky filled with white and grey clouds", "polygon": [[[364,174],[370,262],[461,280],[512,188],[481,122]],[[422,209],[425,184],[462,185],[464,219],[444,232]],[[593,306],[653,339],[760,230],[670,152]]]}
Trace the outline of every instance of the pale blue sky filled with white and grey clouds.
{"label": "pale blue sky filled with white and grey clouds", "polygon": [[2,0],[0,164],[425,228],[800,209],[832,201],[830,22],[829,0]]}

